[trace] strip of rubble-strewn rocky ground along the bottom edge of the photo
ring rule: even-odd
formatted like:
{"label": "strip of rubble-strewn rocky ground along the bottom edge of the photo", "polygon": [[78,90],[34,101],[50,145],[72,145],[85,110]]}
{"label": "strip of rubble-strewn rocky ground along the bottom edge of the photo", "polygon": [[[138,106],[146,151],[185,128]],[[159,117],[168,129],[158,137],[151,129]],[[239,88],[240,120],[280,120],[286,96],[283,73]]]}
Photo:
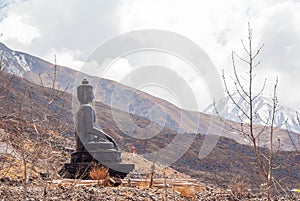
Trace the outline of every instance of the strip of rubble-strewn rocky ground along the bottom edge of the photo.
{"label": "strip of rubble-strewn rocky ground along the bottom edge of the photo", "polygon": [[[189,192],[189,191],[188,191]],[[261,194],[248,193],[244,196],[234,196],[230,192],[226,192],[220,189],[204,188],[196,193],[186,193],[181,190],[168,189],[155,189],[155,188],[130,188],[130,187],[86,187],[86,186],[61,186],[60,188],[52,188],[46,191],[46,195],[43,196],[43,189],[41,187],[32,186],[29,188],[28,199],[30,201],[42,200],[128,200],[128,201],[159,201],[159,200],[170,200],[170,201],[211,201],[211,200],[253,200],[263,201],[266,198]],[[7,187],[0,184],[0,196],[3,199],[8,200],[23,200],[22,190],[19,187]],[[277,196],[276,200],[297,200],[297,195],[288,194],[285,196]]]}

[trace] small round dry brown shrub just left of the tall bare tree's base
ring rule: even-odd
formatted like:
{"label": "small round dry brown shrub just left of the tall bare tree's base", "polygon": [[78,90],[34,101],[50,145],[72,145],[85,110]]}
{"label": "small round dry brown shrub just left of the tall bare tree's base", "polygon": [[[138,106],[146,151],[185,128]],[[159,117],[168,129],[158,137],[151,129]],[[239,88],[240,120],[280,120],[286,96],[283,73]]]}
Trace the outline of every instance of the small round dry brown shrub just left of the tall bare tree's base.
{"label": "small round dry brown shrub just left of the tall bare tree's base", "polygon": [[240,199],[248,195],[248,190],[250,186],[244,181],[242,177],[236,176],[230,179],[230,184],[228,185],[228,188],[231,190],[235,197]]}

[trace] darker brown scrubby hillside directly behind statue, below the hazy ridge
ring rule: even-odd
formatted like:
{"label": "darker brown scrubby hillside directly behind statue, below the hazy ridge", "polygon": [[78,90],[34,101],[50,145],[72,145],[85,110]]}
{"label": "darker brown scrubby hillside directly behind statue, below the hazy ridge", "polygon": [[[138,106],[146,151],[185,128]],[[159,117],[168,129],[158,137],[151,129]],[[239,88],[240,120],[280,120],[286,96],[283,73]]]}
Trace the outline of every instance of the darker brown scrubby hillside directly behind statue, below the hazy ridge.
{"label": "darker brown scrubby hillside directly behind statue, below the hazy ridge", "polygon": [[[59,96],[49,105],[48,98],[52,94],[59,94]],[[41,168],[45,168],[44,162],[48,161],[51,163],[51,165],[49,164],[51,170],[58,170],[63,163],[61,158],[69,157],[65,155],[65,146],[74,147],[71,94],[45,88],[21,77],[0,72],[0,98],[0,130],[5,130],[12,137],[20,137],[17,134],[21,134],[21,138],[23,138],[23,135],[28,134],[28,139],[33,147],[38,144],[36,141],[50,144],[51,146],[47,146],[47,150],[44,150],[48,160],[39,160],[39,162],[42,162]],[[176,136],[182,136],[182,134],[164,127],[151,139],[131,137],[126,134],[126,131],[130,132],[131,127],[120,130],[114,120],[117,117],[121,123],[126,125],[126,112],[111,108],[102,102],[96,102],[95,108],[96,111],[100,111],[97,113],[99,125],[116,140],[122,151],[129,152],[131,147],[135,146],[138,154],[155,153],[170,145]],[[33,119],[36,126],[33,126]],[[141,116],[131,115],[131,119],[140,128],[146,127],[150,123],[149,119]],[[67,132],[63,133],[57,130],[62,125],[67,125],[64,128],[64,130],[68,130]],[[42,128],[46,127],[47,130],[44,131]],[[50,130],[50,128],[56,130]],[[36,134],[36,129],[39,131],[38,134]],[[172,164],[172,168],[191,175],[201,182],[226,188],[237,175],[253,187],[262,183],[258,172],[254,168],[249,168],[255,165],[251,146],[220,137],[212,152],[206,158],[198,159],[199,149],[204,140],[205,135],[196,134],[191,146],[187,147],[185,154]],[[16,141],[12,142],[16,143]],[[176,144],[176,148],[182,146],[184,146],[184,141]],[[260,151],[267,153],[268,150],[261,148]],[[277,168],[274,170],[274,177],[280,178],[280,182],[285,188],[300,185],[299,160],[299,154],[297,155],[296,152],[278,151],[276,153],[274,165]]]}

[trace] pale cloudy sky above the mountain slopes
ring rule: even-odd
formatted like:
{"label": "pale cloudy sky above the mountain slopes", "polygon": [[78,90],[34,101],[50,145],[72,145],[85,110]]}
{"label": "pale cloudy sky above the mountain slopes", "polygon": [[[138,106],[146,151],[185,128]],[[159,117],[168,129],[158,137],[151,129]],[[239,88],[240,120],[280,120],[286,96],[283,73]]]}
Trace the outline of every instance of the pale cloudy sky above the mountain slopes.
{"label": "pale cloudy sky above the mountain slopes", "polygon": [[[248,22],[253,47],[264,47],[257,58],[254,89],[270,97],[276,77],[282,105],[300,111],[300,0],[0,0],[0,42],[59,65],[81,69],[85,60],[105,41],[134,30],[160,29],[189,38],[201,47],[221,79],[232,81],[231,53],[246,56]],[[120,59],[105,75],[122,80],[132,70]],[[178,63],[179,65],[179,63]],[[183,64],[182,64],[183,65]],[[239,75],[246,66],[237,62]],[[188,68],[188,67],[187,67]],[[212,102],[205,80],[175,68],[197,97],[199,108]],[[247,84],[247,83],[245,83]],[[233,89],[233,84],[228,84]],[[172,91],[160,86],[140,89],[180,105]],[[189,108],[187,108],[189,109]]]}

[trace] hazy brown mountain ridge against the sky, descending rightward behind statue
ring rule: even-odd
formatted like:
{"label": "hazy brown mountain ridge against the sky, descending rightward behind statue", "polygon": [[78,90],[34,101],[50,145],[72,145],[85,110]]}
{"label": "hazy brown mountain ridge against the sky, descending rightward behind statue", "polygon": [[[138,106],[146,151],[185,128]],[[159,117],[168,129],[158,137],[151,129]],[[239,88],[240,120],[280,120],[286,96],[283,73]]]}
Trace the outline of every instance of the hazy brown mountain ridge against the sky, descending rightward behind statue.
{"label": "hazy brown mountain ridge against the sky, descending rightward behind statue", "polygon": [[[146,124],[144,128],[152,129],[151,132],[150,130],[147,131],[150,136],[155,134],[153,128],[156,127],[156,131],[166,128],[177,133],[219,135],[234,139],[241,144],[248,144],[243,136],[233,131],[231,128],[240,128],[240,123],[228,120],[227,125],[222,127],[224,124],[223,120],[212,115],[202,112],[182,110],[168,101],[154,97],[148,93],[122,85],[112,80],[79,74],[78,71],[73,69],[59,65],[55,66],[54,64],[29,54],[13,51],[7,48],[4,44],[0,44],[0,53],[2,54],[2,68],[4,71],[8,73],[15,73],[17,76],[23,77],[37,85],[51,88],[55,77],[55,89],[63,89],[72,94],[74,86],[76,85],[76,78],[79,75],[81,78],[97,81],[92,83],[96,90],[96,101],[127,114],[127,116],[124,116],[122,119],[122,125],[124,125],[123,130],[126,130],[127,127],[136,128],[135,130],[131,130],[131,132],[140,132],[143,130],[135,126],[136,122],[131,118],[131,115],[133,115],[143,117],[148,121],[148,124]],[[116,91],[115,89],[118,89],[117,91],[119,94],[117,100],[120,101],[116,101],[116,103],[112,104],[114,92]],[[76,105],[76,100],[74,103]],[[114,120],[115,122],[118,121],[118,119]],[[151,122],[155,124],[152,124]],[[260,128],[262,128],[262,126],[258,125],[257,129]],[[298,134],[296,132],[291,132],[290,135],[287,135],[285,129],[276,129],[274,138],[281,140],[282,150],[294,150],[295,145],[300,149]],[[293,141],[296,143],[293,143]],[[268,146],[268,144],[269,137],[268,131],[266,130],[261,134],[260,146]]]}

